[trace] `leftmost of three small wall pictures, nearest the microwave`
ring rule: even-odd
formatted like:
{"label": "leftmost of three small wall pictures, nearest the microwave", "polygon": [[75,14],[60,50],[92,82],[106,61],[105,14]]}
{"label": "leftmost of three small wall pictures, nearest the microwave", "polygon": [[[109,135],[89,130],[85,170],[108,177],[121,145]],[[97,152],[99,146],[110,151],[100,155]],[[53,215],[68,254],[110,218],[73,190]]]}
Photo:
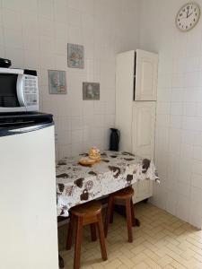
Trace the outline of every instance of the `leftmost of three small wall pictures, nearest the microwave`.
{"label": "leftmost of three small wall pictures, nearest the microwave", "polygon": [[66,94],[66,71],[48,70],[50,94]]}

